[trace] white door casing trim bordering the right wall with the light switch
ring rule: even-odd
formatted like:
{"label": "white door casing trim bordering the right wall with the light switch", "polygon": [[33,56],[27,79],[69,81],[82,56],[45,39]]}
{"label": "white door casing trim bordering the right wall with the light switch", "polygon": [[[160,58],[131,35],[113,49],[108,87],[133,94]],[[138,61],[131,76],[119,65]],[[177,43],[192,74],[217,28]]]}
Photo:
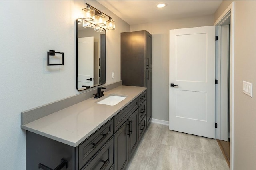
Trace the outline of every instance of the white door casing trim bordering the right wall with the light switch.
{"label": "white door casing trim bordering the right wall with the light switch", "polygon": [[234,2],[222,13],[214,25],[220,26],[230,17],[230,170],[234,170]]}

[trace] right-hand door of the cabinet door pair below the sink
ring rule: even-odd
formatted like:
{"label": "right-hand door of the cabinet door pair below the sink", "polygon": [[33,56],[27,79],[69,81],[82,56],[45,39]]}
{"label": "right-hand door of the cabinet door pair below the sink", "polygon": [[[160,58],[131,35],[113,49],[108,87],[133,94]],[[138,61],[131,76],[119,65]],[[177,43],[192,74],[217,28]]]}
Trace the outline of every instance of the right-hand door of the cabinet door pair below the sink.
{"label": "right-hand door of the cabinet door pair below the sink", "polygon": [[129,159],[138,145],[138,112],[137,109],[129,118]]}

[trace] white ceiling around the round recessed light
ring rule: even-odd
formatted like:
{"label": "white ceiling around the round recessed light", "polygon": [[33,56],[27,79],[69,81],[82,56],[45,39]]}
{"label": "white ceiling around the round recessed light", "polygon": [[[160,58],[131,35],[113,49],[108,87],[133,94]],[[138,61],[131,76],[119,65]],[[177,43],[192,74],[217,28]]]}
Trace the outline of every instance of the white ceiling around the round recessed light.
{"label": "white ceiling around the round recessed light", "polygon": [[[220,0],[98,0],[129,25],[214,14]],[[157,8],[160,2],[167,4]],[[114,19],[114,18],[113,18]]]}

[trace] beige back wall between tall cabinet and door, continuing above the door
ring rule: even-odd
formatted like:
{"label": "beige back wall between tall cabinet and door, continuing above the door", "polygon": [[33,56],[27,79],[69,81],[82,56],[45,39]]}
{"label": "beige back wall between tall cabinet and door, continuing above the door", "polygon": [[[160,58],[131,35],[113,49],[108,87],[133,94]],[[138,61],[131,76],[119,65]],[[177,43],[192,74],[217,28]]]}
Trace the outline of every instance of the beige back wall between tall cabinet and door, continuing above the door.
{"label": "beige back wall between tall cabinet and door, continuing above the door", "polygon": [[152,118],[169,121],[169,30],[214,25],[214,16],[180,18],[131,25],[130,31],[152,34]]}

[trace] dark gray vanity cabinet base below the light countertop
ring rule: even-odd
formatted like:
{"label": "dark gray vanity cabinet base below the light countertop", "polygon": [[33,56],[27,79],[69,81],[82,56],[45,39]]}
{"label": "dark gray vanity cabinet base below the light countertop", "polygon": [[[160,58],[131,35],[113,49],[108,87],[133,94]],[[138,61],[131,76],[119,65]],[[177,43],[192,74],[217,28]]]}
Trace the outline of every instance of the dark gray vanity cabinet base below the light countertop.
{"label": "dark gray vanity cabinet base below the light countertop", "polygon": [[[124,170],[146,130],[146,91],[76,147],[26,131],[26,170]],[[43,169],[43,168],[41,168]]]}

